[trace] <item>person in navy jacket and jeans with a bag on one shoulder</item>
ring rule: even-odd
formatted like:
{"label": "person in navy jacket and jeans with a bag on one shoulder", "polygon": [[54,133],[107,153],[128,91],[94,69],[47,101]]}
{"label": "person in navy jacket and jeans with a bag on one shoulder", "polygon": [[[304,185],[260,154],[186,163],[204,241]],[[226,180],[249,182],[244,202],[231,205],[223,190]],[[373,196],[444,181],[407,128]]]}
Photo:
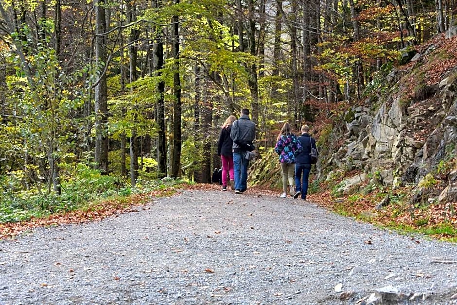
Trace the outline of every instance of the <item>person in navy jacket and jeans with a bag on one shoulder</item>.
{"label": "person in navy jacket and jeans with a bag on one shoulder", "polygon": [[[301,136],[298,137],[302,150],[295,157],[295,195],[297,199],[306,200],[308,194],[308,178],[311,171],[311,147],[316,148],[316,140],[309,134],[309,126],[301,126]],[[301,181],[300,181],[301,180]]]}

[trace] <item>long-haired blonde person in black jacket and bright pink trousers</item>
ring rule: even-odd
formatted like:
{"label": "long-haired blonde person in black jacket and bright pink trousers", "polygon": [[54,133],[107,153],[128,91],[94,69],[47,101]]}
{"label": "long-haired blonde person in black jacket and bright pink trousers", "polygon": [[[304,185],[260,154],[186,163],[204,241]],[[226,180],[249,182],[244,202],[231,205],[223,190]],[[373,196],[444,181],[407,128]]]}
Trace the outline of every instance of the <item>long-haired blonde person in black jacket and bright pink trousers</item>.
{"label": "long-haired blonde person in black jacket and bright pink trousers", "polygon": [[221,157],[222,161],[222,190],[227,190],[227,176],[229,176],[229,184],[232,190],[235,189],[234,173],[233,173],[233,153],[232,146],[233,140],[230,137],[230,131],[233,122],[236,120],[235,116],[229,116],[221,127],[219,140],[217,141],[217,155]]}

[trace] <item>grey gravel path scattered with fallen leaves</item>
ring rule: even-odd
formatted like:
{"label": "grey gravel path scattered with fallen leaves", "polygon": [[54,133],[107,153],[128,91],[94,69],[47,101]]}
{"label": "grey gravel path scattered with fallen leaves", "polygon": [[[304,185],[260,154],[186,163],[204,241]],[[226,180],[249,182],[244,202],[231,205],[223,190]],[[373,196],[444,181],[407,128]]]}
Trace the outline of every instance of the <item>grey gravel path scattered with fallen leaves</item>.
{"label": "grey gravel path scattered with fallen leaves", "polygon": [[231,191],[0,242],[2,305],[379,304],[389,286],[395,304],[457,304],[457,247]]}

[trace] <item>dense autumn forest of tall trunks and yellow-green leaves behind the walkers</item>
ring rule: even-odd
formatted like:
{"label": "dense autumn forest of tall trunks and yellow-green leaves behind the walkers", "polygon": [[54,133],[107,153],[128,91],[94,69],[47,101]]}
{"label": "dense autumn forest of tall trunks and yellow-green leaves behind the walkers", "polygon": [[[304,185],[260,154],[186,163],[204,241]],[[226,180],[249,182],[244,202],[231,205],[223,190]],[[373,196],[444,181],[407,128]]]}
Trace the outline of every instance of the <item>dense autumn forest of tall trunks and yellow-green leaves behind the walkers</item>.
{"label": "dense autumn forest of tall trunks and yellow-green leaves behind the walkers", "polygon": [[264,153],[282,122],[322,124],[359,102],[456,10],[456,0],[0,0],[0,199],[60,195],[91,170],[132,186],[209,182],[230,114],[251,110]]}

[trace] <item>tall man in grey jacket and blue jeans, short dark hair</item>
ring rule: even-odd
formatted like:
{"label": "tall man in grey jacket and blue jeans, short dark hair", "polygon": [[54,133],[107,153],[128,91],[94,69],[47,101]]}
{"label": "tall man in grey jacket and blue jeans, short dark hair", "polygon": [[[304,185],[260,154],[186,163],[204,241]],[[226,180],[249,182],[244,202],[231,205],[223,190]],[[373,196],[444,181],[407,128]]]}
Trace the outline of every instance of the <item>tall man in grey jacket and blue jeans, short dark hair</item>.
{"label": "tall man in grey jacket and blue jeans, short dark hair", "polygon": [[236,120],[230,131],[233,140],[233,169],[235,178],[235,193],[240,194],[247,189],[246,152],[253,149],[255,138],[255,123],[249,119],[249,109],[241,110],[241,117]]}

